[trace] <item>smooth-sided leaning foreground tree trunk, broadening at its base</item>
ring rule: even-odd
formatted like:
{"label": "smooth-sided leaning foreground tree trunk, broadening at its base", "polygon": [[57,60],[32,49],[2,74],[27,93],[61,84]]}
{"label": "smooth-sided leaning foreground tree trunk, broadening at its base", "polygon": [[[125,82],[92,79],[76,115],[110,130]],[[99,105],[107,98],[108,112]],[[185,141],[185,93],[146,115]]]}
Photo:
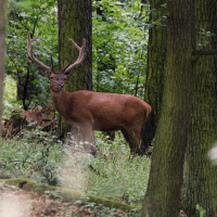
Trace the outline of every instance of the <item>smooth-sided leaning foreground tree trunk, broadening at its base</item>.
{"label": "smooth-sided leaning foreground tree trunk, broadening at its base", "polygon": [[167,0],[167,59],[162,111],[142,209],[142,216],[150,217],[178,216],[192,101],[194,1]]}

